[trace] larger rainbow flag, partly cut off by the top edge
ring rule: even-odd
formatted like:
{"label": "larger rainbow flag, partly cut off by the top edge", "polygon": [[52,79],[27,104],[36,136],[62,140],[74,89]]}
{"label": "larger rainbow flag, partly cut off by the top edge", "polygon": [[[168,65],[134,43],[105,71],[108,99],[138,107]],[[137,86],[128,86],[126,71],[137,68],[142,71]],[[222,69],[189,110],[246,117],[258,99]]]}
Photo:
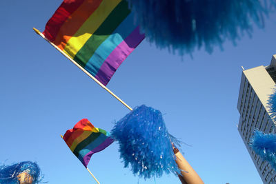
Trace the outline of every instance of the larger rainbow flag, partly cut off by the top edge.
{"label": "larger rainbow flag, partly cut off by the top edge", "polygon": [[46,24],[46,39],[107,85],[144,39],[126,0],[64,0]]}

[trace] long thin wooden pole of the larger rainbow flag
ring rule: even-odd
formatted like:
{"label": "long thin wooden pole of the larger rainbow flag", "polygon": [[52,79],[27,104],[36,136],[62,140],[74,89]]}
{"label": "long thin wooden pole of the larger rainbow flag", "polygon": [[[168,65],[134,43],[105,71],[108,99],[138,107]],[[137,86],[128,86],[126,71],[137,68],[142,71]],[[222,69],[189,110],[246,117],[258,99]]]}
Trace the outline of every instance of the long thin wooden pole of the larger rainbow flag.
{"label": "long thin wooden pole of the larger rainbow flag", "polygon": [[84,68],[81,67],[81,65],[79,65],[79,63],[77,63],[76,61],[74,61],[72,58],[70,58],[68,56],[68,54],[66,54],[65,52],[63,52],[63,50],[61,50],[60,48],[57,47],[57,45],[55,45],[54,43],[52,43],[50,40],[48,40],[44,34],[42,34],[39,30],[37,30],[36,28],[32,28],[34,30],[34,32],[36,32],[37,34],[39,34],[39,36],[41,36],[43,39],[45,39],[46,41],[48,41],[48,43],[50,43],[54,48],[56,48],[59,52],[61,52],[61,54],[63,54],[63,56],[65,56],[67,59],[69,59],[70,61],[72,61],[72,63],[74,63],[75,65],[77,65],[77,67],[79,69],[81,69],[83,72],[85,72],[88,76],[90,76],[91,79],[93,79],[97,84],[101,85],[101,88],[105,89],[107,92],[109,92],[112,96],[115,97],[115,99],[117,99],[119,102],[123,103],[123,105],[126,106],[126,108],[128,108],[129,110],[132,110],[132,108],[130,108],[130,106],[128,106],[128,104],[126,104],[124,101],[122,101],[116,94],[114,94],[112,91],[110,91],[108,88],[106,88],[105,85],[103,85],[100,81],[98,81],[94,76],[92,76],[89,72],[87,72]]}

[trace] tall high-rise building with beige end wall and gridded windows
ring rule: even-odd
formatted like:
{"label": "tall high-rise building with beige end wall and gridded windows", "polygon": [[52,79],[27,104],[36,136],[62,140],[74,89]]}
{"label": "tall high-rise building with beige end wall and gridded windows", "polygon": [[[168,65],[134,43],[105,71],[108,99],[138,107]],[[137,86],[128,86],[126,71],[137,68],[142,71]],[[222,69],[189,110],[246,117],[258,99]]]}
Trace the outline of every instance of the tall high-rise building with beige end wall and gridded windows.
{"label": "tall high-rise building with beige end wall and gridded windows", "polygon": [[268,95],[273,93],[276,82],[276,54],[270,65],[250,68],[242,72],[242,81],[239,88],[239,134],[253,160],[259,176],[267,184],[276,183],[276,172],[273,168],[259,158],[249,147],[248,143],[254,129],[265,133],[274,132],[275,123],[269,116],[267,108]]}

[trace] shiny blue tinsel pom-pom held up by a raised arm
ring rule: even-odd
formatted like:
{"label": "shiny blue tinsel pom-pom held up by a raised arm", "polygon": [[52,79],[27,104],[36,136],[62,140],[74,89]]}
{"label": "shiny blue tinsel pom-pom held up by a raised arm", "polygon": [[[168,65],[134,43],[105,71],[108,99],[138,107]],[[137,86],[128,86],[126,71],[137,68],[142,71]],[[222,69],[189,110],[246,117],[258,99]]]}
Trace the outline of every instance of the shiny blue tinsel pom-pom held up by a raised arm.
{"label": "shiny blue tinsel pom-pom held up by a raised arm", "polygon": [[133,174],[146,179],[163,172],[179,173],[171,145],[177,140],[168,133],[159,110],[141,105],[118,121],[111,134],[119,141],[120,157]]}

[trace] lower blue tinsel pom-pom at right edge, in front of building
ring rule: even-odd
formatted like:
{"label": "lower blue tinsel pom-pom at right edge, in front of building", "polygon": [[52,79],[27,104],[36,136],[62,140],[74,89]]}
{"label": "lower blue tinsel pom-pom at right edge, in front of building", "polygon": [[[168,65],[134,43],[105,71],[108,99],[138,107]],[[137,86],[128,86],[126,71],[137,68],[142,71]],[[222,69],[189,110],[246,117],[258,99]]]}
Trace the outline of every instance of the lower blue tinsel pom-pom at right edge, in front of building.
{"label": "lower blue tinsel pom-pom at right edge, in front of building", "polygon": [[250,146],[276,170],[276,134],[264,134],[256,130],[250,140]]}

